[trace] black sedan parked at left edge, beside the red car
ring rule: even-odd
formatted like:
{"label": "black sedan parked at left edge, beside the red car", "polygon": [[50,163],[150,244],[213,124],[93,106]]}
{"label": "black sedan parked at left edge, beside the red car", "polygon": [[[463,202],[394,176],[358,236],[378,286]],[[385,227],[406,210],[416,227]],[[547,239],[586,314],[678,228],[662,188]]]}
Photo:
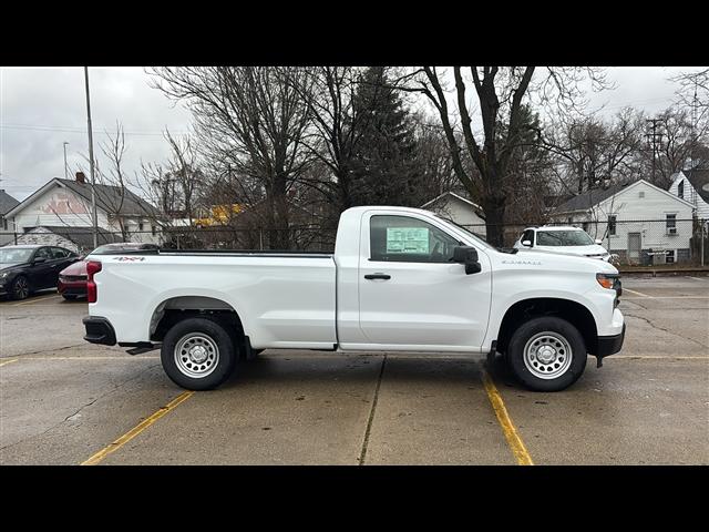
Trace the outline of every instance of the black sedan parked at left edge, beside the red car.
{"label": "black sedan parked at left edge, beside the red car", "polygon": [[35,290],[54,288],[59,273],[79,259],[74,252],[58,246],[0,247],[0,295],[24,299]]}

